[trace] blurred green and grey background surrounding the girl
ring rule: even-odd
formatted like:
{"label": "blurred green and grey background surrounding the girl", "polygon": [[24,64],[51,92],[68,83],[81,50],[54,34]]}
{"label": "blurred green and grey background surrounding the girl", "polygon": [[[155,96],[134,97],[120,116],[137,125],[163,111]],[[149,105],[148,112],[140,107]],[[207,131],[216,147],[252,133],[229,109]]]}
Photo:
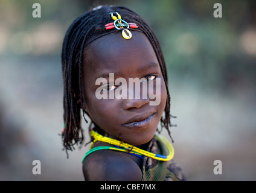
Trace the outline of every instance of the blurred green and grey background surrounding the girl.
{"label": "blurred green and grey background surrounding the girl", "polygon": [[[217,2],[222,18],[213,16]],[[69,25],[101,4],[129,7],[159,39],[177,116],[174,159],[187,180],[256,180],[256,1],[236,0],[0,0],[0,180],[83,180],[88,147],[67,159],[59,136],[60,54]]]}

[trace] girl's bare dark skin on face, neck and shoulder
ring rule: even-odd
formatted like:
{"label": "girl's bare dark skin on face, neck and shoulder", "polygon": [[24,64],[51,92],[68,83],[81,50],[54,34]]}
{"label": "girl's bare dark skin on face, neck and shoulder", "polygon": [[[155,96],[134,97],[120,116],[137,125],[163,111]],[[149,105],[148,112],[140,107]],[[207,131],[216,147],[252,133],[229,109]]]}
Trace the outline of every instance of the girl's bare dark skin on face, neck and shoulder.
{"label": "girl's bare dark skin on face, neck and shoulder", "polygon": [[[86,47],[84,54],[83,108],[110,138],[146,149],[156,132],[167,100],[164,78],[149,40],[136,31],[132,31],[132,38],[126,40],[121,36],[121,31],[118,31],[92,42]],[[150,106],[149,97],[98,100],[95,90],[100,86],[95,85],[95,81],[105,74],[107,76],[104,78],[109,83],[109,73],[114,73],[115,79],[125,78],[127,83],[128,78],[146,78],[148,81],[160,78],[161,92],[157,93],[161,97],[160,104]],[[118,86],[120,85],[112,85],[110,90],[103,92],[114,92]],[[125,125],[131,119],[145,119],[150,115],[153,116],[146,124],[135,127]],[[102,145],[110,146],[104,142],[96,142],[94,147]],[[95,151],[83,162],[85,180],[141,180],[141,168],[141,158],[112,150]]]}

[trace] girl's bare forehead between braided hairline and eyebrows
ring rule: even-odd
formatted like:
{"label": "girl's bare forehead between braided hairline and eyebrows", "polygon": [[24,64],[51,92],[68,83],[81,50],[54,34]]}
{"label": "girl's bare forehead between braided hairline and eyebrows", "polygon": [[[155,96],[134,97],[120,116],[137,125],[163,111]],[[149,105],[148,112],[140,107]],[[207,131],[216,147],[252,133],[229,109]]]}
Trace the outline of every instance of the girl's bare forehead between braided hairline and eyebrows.
{"label": "girl's bare forehead between braided hairline and eyebrows", "polygon": [[147,37],[137,31],[132,32],[129,40],[120,31],[103,36],[90,45],[84,52],[86,69],[115,69],[129,63],[158,63],[155,51]]}

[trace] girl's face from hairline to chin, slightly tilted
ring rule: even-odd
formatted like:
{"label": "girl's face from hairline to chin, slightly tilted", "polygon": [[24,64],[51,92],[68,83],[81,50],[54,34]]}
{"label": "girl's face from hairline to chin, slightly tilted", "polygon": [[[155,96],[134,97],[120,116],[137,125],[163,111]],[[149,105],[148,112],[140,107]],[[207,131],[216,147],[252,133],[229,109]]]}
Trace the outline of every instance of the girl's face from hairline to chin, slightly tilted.
{"label": "girl's face from hairline to chin, slightly tilted", "polygon": [[[132,31],[129,40],[121,36],[121,32],[108,34],[92,42],[85,49],[83,61],[83,100],[92,121],[100,128],[117,138],[132,145],[149,142],[158,127],[165,109],[167,91],[162,77],[156,54],[147,37]],[[115,92],[119,85],[110,82],[109,73],[114,73],[114,80],[124,78],[147,78],[149,81],[161,80],[161,92],[158,106],[150,106],[150,98],[136,99],[97,99],[95,92],[102,86],[96,85],[97,78],[106,78],[108,86],[102,92]],[[154,83],[156,85],[156,83]],[[127,85],[128,87],[128,85]],[[134,92],[135,93],[135,85]],[[109,90],[108,90],[109,89]],[[129,87],[130,89],[130,87]],[[127,96],[130,90],[127,89]],[[154,89],[156,90],[156,89]],[[136,91],[137,92],[137,91]],[[140,89],[142,93],[142,89]]]}

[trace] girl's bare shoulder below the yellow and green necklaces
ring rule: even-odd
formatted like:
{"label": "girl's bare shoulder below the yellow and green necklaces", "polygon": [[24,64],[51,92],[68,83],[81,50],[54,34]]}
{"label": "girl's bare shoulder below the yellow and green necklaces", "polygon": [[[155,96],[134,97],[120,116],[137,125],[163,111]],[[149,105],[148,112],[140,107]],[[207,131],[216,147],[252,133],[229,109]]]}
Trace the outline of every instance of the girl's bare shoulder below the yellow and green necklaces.
{"label": "girl's bare shoulder below the yellow and green necklaces", "polygon": [[83,161],[83,176],[88,181],[140,181],[142,172],[125,153],[98,150]]}

